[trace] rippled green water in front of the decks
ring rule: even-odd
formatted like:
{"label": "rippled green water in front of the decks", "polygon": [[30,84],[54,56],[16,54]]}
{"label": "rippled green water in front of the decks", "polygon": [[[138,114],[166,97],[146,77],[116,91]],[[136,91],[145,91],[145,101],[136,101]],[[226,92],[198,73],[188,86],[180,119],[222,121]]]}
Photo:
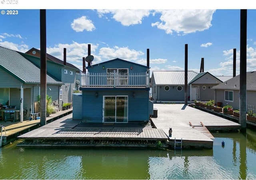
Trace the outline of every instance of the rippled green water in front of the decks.
{"label": "rippled green water in front of the decks", "polygon": [[256,131],[213,135],[213,150],[18,148],[17,141],[0,148],[0,179],[256,179]]}

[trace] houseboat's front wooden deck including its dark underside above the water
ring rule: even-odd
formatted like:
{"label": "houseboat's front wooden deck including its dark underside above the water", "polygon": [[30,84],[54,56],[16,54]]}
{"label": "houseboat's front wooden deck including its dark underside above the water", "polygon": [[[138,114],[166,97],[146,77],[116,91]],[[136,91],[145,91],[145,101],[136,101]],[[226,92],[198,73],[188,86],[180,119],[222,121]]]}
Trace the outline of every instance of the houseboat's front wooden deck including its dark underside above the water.
{"label": "houseboat's front wooden deck including its dark underside above the water", "polygon": [[[156,146],[157,141],[168,140],[161,129],[151,126],[141,126],[138,123],[104,125],[97,123],[95,127],[90,124],[82,124],[80,120],[72,120],[72,114],[64,116],[54,122],[46,124],[36,130],[18,136],[29,143],[21,143],[18,146],[74,146],[74,140],[79,146]],[[88,125],[88,126],[87,126]],[[97,127],[98,126],[98,127]],[[32,141],[33,142],[32,142]],[[43,142],[38,143],[38,140]],[[55,144],[49,144],[54,140]],[[137,143],[137,142],[138,143]],[[136,143],[134,143],[136,142]],[[144,142],[144,143],[142,143]],[[142,145],[143,144],[143,145]]]}

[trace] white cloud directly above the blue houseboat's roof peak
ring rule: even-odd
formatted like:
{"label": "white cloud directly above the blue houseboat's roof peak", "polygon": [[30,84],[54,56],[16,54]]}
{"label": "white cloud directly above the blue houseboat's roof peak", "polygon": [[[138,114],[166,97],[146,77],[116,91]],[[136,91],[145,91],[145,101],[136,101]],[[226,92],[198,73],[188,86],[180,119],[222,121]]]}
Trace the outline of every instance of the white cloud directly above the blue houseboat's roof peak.
{"label": "white cloud directly above the blue houseboat's roof peak", "polygon": [[138,56],[143,55],[141,51],[131,50],[128,47],[118,47],[114,48],[100,48],[99,55],[103,58],[108,58],[109,60],[120,58],[124,60],[137,60]]}

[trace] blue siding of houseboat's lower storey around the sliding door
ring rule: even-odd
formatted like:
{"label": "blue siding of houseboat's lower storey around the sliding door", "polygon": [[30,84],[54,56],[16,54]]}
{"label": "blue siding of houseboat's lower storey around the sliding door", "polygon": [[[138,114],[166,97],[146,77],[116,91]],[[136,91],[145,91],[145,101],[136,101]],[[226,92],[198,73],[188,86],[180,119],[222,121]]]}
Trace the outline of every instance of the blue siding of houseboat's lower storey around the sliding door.
{"label": "blue siding of houseboat's lower storey around the sliding door", "polygon": [[149,120],[148,91],[83,91],[83,120],[86,122],[102,122],[103,96],[128,96],[128,122],[141,122]]}

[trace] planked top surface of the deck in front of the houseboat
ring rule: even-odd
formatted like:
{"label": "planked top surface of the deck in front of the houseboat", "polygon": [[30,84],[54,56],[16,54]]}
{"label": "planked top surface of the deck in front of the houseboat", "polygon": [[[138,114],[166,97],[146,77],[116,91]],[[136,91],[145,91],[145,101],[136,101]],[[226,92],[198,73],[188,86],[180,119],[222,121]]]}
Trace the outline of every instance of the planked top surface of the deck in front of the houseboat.
{"label": "planked top surface of the deck in front of the houseboat", "polygon": [[72,120],[72,114],[18,136],[21,139],[128,139],[167,140],[161,129],[148,127],[91,127],[76,128],[80,121]]}

